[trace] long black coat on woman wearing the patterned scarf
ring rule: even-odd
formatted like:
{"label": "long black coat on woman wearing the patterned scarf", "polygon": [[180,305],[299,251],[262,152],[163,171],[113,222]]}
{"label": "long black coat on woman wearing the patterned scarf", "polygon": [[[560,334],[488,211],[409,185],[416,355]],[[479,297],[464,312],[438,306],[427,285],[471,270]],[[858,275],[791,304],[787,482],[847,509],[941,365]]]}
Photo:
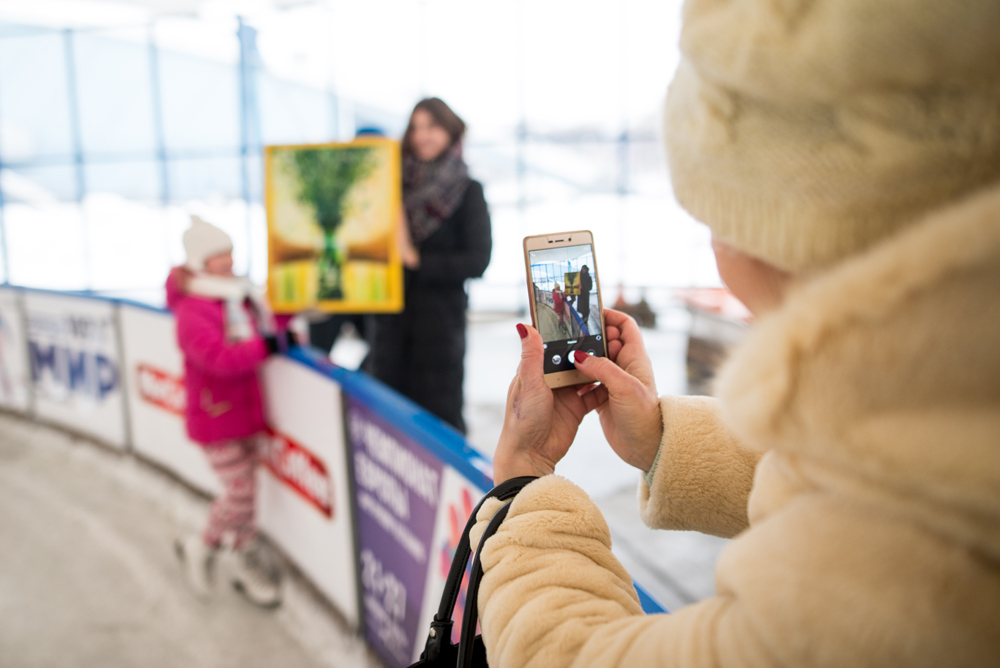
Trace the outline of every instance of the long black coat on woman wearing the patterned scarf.
{"label": "long black coat on woman wearing the patterned scarf", "polygon": [[402,313],[374,318],[369,372],[465,432],[465,281],[479,278],[493,248],[483,186],[470,181],[455,213],[420,244],[406,270]]}

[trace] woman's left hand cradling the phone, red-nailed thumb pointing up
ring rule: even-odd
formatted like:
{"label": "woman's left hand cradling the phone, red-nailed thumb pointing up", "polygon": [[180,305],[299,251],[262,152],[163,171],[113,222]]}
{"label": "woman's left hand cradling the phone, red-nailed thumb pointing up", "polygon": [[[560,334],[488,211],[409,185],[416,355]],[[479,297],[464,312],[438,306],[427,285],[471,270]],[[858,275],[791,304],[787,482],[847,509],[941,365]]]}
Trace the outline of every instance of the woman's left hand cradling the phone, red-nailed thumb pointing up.
{"label": "woman's left hand cradling the phone, red-nailed thumb pointing up", "polygon": [[503,431],[493,455],[496,484],[518,476],[553,473],[572,445],[583,416],[601,400],[596,392],[581,396],[575,387],[553,391],[545,384],[542,337],[533,327],[518,325],[517,331],[521,364],[507,391]]}

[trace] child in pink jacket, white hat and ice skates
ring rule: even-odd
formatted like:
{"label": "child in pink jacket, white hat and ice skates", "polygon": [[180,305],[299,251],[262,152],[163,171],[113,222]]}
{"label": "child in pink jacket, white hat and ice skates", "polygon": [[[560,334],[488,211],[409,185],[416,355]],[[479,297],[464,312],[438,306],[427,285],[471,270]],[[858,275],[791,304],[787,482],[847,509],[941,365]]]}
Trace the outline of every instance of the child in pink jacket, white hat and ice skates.
{"label": "child in pink jacket, white hat and ice skates", "polygon": [[279,339],[253,285],[233,275],[229,235],[192,216],[184,248],[186,264],[167,279],[167,305],[184,354],[187,432],[201,444],[223,493],[204,531],[177,541],[177,554],[194,591],[206,596],[215,554],[230,536],[234,586],[270,607],[281,595],[254,524],[257,439],[265,430],[257,368],[277,351]]}

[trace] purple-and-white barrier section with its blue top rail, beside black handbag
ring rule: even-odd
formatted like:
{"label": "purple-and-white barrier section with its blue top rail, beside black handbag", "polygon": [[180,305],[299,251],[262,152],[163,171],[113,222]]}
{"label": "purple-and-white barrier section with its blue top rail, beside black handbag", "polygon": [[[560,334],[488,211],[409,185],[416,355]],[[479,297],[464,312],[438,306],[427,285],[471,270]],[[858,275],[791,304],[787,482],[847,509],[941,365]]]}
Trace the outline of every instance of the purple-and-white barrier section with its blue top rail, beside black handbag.
{"label": "purple-and-white barrier section with its blue top rail, beside black handbag", "polygon": [[[492,465],[450,425],[370,376],[315,349],[289,356],[344,389],[363,632],[387,666],[407,666],[437,610],[458,538],[453,526],[464,526],[492,488]],[[384,489],[372,478],[398,495],[378,498]]]}

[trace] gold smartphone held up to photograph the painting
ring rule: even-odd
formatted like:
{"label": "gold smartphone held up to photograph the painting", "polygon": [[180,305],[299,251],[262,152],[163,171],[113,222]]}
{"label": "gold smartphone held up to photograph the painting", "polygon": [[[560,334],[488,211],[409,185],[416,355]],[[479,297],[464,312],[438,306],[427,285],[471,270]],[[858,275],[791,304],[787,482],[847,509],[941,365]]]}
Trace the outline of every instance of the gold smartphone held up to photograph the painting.
{"label": "gold smartphone held up to photograph the painting", "polygon": [[589,383],[576,370],[573,353],[607,357],[604,305],[590,232],[540,234],[524,238],[531,323],[545,346],[549,387]]}

